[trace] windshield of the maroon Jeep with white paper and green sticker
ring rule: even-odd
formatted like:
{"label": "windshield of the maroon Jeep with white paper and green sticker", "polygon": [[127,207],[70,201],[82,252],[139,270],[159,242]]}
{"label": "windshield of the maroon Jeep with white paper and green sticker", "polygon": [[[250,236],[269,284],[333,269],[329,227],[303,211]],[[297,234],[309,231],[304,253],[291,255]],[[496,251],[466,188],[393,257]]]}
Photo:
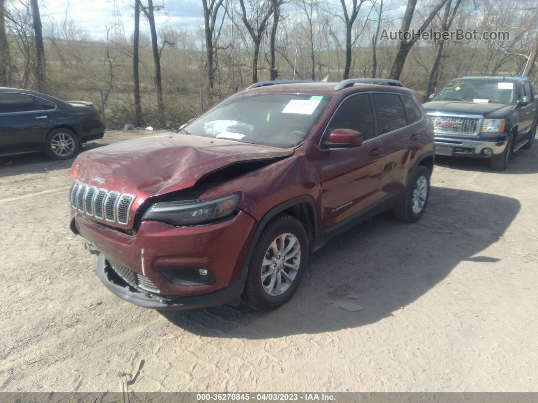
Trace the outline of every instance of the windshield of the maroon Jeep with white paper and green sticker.
{"label": "windshield of the maroon Jeep with white paper and green sticker", "polygon": [[308,136],[330,97],[318,95],[233,95],[180,133],[288,149]]}

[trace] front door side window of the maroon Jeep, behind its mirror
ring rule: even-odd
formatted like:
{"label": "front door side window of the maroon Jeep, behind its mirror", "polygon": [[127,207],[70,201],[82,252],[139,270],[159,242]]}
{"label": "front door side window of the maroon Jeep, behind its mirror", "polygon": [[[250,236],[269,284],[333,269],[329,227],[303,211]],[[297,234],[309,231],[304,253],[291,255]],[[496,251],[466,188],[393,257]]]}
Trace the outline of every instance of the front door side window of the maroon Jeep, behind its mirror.
{"label": "front door side window of the maroon Jeep, behind its mirror", "polygon": [[368,94],[353,95],[346,98],[336,110],[327,126],[325,136],[335,129],[357,130],[367,140],[375,137],[372,106]]}

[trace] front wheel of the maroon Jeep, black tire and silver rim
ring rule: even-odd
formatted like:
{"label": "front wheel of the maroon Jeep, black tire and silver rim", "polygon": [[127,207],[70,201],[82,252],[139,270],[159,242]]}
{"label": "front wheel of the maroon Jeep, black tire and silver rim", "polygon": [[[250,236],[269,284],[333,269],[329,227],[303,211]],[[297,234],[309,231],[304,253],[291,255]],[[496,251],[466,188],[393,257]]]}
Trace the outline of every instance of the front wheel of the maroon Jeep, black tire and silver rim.
{"label": "front wheel of the maroon Jeep, black tire and silver rim", "polygon": [[299,220],[278,215],[267,224],[254,249],[245,283],[245,302],[260,310],[276,308],[299,286],[308,260],[308,238]]}

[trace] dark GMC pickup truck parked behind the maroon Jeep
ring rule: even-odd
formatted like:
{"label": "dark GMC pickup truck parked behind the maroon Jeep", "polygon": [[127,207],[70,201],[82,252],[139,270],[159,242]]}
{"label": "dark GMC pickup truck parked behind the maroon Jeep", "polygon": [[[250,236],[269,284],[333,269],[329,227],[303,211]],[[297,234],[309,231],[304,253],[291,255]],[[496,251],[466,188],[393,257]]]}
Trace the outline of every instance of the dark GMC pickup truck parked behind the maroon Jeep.
{"label": "dark GMC pickup truck parked behind the maroon Jeep", "polygon": [[462,77],[430,96],[437,155],[487,158],[504,171],[513,152],[530,149],[536,133],[536,94],[528,77]]}

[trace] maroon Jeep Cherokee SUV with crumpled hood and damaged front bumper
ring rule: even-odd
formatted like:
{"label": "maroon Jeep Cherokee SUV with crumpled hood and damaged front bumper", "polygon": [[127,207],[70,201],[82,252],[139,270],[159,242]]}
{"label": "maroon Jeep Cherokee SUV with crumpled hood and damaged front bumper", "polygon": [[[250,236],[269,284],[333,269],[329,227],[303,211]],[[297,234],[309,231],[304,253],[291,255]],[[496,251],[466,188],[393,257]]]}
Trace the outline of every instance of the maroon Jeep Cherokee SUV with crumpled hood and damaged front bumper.
{"label": "maroon Jeep Cherokee SUV with crumpled hood and damaged front bumper", "polygon": [[329,238],[388,209],[420,218],[433,140],[398,81],[261,82],[179,133],[80,154],[71,229],[136,305],[277,307]]}

